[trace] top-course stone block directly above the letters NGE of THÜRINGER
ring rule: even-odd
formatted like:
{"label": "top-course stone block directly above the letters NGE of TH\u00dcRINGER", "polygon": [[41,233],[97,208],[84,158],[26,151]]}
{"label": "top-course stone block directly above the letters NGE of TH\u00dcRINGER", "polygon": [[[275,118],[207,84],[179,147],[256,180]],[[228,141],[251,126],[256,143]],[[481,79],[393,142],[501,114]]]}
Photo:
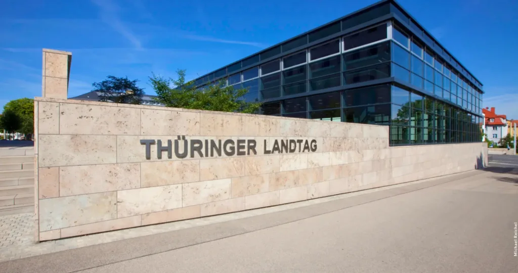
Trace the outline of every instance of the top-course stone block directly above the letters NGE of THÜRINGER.
{"label": "top-course stone block directly above the letters NGE of TH\u00dcRINGER", "polygon": [[245,132],[243,116],[200,113],[201,136],[244,136]]}

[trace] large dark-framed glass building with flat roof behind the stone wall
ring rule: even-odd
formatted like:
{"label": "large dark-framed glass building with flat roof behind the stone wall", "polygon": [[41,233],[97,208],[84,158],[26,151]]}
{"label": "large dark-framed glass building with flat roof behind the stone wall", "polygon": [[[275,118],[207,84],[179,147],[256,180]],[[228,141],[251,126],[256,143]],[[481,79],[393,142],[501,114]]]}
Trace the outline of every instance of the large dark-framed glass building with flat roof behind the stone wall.
{"label": "large dark-framed glass building with flat roof behind the stone wall", "polygon": [[194,80],[274,116],[390,126],[390,145],[481,141],[482,83],[393,0]]}

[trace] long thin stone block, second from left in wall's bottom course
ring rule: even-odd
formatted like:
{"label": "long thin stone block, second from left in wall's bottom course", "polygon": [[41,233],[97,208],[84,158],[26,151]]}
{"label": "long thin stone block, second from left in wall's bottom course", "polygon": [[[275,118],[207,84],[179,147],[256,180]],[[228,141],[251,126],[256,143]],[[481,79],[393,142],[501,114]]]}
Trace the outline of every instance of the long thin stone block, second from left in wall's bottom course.
{"label": "long thin stone block, second from left in wall's bottom course", "polygon": [[140,226],[140,215],[85,224],[80,226],[66,227],[61,229],[61,238],[80,236],[99,232],[116,231],[130,227]]}

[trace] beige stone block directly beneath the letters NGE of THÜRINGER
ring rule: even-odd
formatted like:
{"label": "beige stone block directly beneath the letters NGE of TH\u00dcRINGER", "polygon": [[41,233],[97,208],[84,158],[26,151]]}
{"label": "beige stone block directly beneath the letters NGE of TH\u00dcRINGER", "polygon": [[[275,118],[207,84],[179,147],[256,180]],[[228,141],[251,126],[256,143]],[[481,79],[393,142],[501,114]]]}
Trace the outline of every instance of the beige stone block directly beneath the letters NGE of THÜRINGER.
{"label": "beige stone block directly beneath the letters NGE of TH\u00dcRINGER", "polygon": [[199,173],[202,181],[244,176],[244,157],[200,160]]}

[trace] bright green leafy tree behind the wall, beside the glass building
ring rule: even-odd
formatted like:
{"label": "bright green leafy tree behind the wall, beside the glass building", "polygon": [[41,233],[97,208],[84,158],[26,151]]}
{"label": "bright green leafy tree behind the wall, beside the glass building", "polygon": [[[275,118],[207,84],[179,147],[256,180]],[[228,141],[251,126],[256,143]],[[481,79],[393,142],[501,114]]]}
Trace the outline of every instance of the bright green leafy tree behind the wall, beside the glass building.
{"label": "bright green leafy tree behind the wall, beside the glass building", "polygon": [[240,113],[257,113],[261,107],[259,102],[242,99],[248,89],[234,89],[223,81],[196,89],[193,81],[185,81],[185,70],[178,70],[177,74],[176,80],[155,74],[149,78],[157,102],[167,107]]}

